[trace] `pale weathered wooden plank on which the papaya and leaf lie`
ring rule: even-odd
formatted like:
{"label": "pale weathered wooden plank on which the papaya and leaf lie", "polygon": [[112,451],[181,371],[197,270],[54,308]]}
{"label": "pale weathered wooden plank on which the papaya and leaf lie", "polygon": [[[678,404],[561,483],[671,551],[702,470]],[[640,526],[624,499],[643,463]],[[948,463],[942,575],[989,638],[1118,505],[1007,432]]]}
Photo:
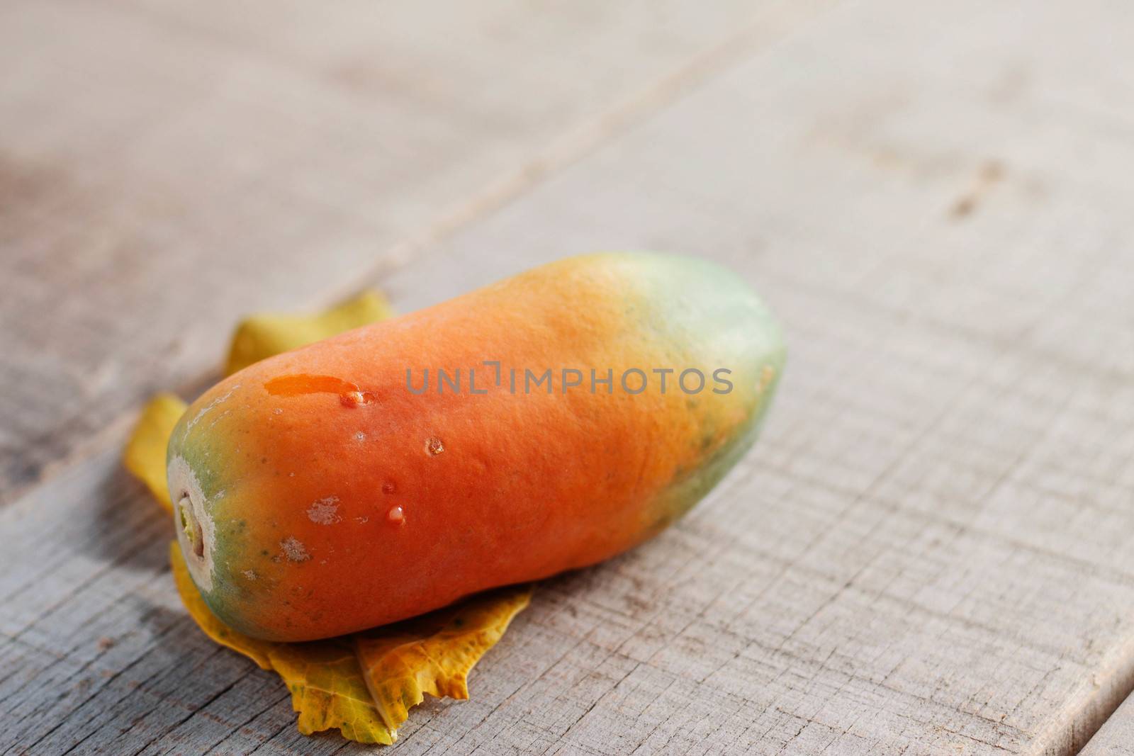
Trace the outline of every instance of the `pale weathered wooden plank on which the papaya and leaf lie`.
{"label": "pale weathered wooden plank on which the papaya and leaf lie", "polygon": [[[792,350],[754,453],[544,585],[397,753],[1083,747],[1134,687],[1132,34],[1108,0],[855,3],[381,275],[412,308],[701,254]],[[0,751],[364,750],[196,631],[116,457],[0,510]]]}

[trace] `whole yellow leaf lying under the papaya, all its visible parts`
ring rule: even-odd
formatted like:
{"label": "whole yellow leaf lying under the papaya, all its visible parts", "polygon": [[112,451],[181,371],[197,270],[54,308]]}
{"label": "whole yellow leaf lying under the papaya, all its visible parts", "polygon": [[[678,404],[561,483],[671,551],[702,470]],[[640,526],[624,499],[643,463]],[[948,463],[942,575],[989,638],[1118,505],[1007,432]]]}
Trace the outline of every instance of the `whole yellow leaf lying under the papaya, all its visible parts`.
{"label": "whole yellow leaf lying under the papaya, all its visible parts", "polygon": [[[234,338],[229,372],[389,315],[386,300],[367,294],[312,317],[251,317]],[[166,447],[185,408],[172,394],[154,397],[126,447],[126,467],[167,510],[172,508],[166,486]],[[397,728],[425,694],[467,698],[469,670],[500,639],[532,595],[531,586],[500,588],[365,632],[310,643],[272,643],[237,632],[212,613],[176,542],[169,558],[189,615],[215,643],[280,676],[291,693],[301,732],[337,728],[344,737],[365,744],[392,744]]]}

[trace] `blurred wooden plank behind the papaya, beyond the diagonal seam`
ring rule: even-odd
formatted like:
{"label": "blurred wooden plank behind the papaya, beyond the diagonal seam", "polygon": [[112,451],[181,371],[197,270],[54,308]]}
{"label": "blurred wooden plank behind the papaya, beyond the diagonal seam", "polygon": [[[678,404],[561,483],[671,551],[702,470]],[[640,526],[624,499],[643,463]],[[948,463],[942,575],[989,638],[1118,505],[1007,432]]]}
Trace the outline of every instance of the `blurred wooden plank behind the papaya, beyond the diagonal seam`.
{"label": "blurred wooden plank behind the papaya, beyond the diagonal seam", "polygon": [[0,501],[826,5],[3,3]]}

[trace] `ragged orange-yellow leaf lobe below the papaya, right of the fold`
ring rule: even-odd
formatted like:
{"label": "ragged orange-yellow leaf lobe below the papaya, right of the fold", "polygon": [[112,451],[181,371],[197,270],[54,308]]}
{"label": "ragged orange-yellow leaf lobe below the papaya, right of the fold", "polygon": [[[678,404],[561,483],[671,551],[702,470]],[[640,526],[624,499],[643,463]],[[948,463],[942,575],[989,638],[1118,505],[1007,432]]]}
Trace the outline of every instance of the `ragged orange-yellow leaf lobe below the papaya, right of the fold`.
{"label": "ragged orange-yellow leaf lobe below the papaya, right of the fold", "polygon": [[510,586],[448,609],[354,635],[366,686],[396,730],[424,694],[468,698],[466,678],[527,606],[532,586]]}

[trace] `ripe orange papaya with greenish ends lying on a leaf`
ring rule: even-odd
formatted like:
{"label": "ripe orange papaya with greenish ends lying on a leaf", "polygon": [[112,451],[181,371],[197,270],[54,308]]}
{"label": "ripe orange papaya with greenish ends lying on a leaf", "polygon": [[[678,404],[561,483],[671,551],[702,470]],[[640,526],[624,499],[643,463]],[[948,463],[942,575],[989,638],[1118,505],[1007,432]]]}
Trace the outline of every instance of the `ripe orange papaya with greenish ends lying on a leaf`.
{"label": "ripe orange papaya with greenish ends lying on a leaf", "polygon": [[218,618],[287,642],[594,564],[721,479],[784,363],[723,267],[561,260],[206,391],[167,449],[178,544]]}

